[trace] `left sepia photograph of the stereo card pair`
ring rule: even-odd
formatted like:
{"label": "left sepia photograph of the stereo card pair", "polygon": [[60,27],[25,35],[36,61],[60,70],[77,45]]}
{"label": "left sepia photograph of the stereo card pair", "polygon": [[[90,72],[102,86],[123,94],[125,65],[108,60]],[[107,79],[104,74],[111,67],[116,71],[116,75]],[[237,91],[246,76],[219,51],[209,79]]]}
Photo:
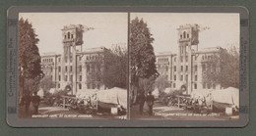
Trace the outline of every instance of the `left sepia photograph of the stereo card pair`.
{"label": "left sepia photograph of the stereo card pair", "polygon": [[127,13],[20,13],[20,118],[125,119]]}

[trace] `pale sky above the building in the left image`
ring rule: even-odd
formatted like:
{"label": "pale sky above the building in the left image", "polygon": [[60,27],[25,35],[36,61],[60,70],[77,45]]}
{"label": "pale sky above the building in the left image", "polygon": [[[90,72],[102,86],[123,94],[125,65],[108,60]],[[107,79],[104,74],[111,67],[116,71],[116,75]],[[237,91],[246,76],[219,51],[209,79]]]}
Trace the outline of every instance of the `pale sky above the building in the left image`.
{"label": "pale sky above the building in the left image", "polygon": [[39,53],[63,53],[62,31],[64,25],[83,24],[95,29],[86,31],[83,50],[115,44],[127,46],[127,13],[20,13],[28,19],[38,35]]}

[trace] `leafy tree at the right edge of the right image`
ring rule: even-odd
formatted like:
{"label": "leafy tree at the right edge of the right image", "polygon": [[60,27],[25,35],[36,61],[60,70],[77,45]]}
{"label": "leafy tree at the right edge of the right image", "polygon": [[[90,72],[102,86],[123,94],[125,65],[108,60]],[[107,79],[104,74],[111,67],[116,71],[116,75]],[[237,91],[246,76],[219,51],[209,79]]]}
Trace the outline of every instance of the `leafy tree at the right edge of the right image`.
{"label": "leafy tree at the right edge of the right image", "polygon": [[239,49],[231,46],[221,49],[213,59],[205,62],[204,82],[221,84],[222,87],[239,87]]}

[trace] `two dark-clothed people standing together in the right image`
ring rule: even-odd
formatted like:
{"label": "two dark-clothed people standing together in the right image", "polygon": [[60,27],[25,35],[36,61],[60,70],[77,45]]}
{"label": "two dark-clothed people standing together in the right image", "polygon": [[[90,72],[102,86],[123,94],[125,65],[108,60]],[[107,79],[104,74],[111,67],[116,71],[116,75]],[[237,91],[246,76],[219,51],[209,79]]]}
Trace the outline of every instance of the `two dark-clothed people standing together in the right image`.
{"label": "two dark-clothed people standing together in the right image", "polygon": [[154,101],[155,101],[155,98],[152,95],[152,92],[149,92],[148,95],[145,96],[145,93],[142,91],[139,94],[137,99],[138,99],[138,103],[140,105],[140,107],[139,107],[140,114],[143,114],[143,108],[144,108],[144,104],[146,102],[149,107],[149,114],[152,115],[153,114],[153,105],[154,105]]}

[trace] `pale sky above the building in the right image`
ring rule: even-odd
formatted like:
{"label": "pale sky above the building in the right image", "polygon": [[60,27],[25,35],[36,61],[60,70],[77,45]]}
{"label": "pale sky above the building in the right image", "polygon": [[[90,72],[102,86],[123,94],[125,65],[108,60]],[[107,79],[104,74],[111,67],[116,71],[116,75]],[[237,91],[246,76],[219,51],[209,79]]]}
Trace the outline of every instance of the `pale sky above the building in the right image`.
{"label": "pale sky above the building in the right image", "polygon": [[239,14],[210,13],[132,13],[131,20],[138,17],[148,23],[155,38],[155,54],[170,51],[178,52],[179,25],[197,23],[210,29],[199,33],[198,48],[239,45]]}

